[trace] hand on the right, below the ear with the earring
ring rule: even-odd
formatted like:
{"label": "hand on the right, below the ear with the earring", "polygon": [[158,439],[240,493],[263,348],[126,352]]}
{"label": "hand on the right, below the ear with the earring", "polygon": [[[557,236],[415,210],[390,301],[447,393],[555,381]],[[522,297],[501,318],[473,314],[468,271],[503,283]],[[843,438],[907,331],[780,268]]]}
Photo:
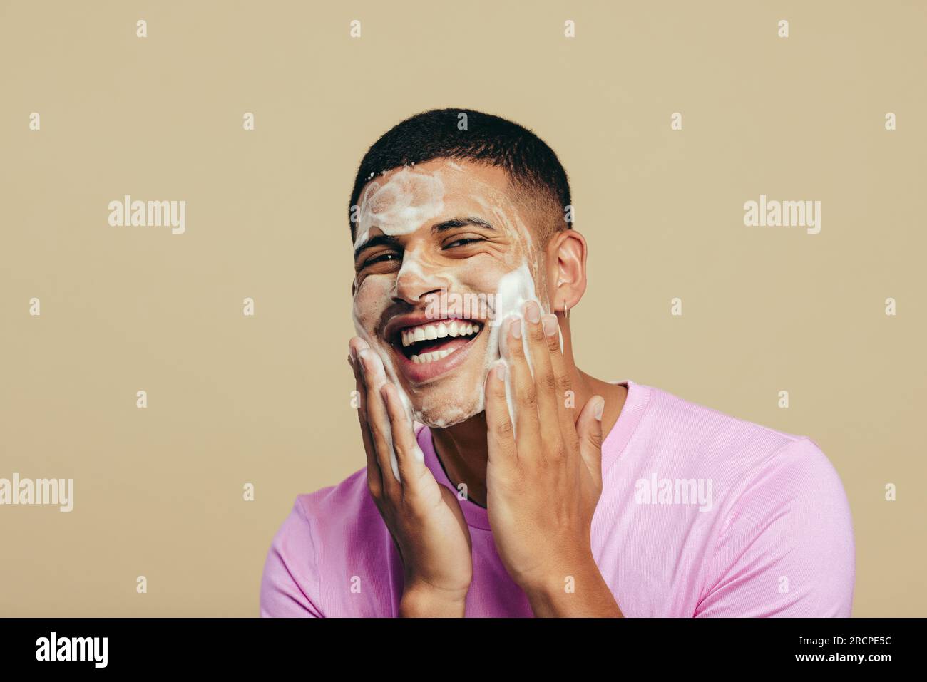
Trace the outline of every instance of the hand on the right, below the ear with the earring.
{"label": "hand on the right, below the ear with the earring", "polygon": [[575,417],[557,318],[541,319],[536,302],[524,324],[502,322],[499,344],[504,360],[486,384],[487,508],[502,563],[535,615],[620,616],[590,545],[602,495],[604,398],[592,396]]}

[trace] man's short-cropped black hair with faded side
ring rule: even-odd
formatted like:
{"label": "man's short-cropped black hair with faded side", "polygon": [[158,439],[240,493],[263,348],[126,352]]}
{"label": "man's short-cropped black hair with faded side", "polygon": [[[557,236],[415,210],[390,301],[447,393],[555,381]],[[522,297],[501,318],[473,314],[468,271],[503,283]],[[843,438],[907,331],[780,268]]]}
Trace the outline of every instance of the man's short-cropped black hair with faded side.
{"label": "man's short-cropped black hair with faded side", "polygon": [[[464,120],[461,114],[466,114],[464,130],[459,125]],[[565,221],[566,207],[571,204],[570,184],[550,146],[511,120],[473,109],[444,108],[403,120],[363,155],[348,205],[351,241],[355,238],[355,225],[350,220],[352,208],[357,206],[363,186],[374,175],[436,158],[474,161],[504,169],[518,192],[517,198],[545,214],[540,229],[545,243],[556,231],[571,227]]]}

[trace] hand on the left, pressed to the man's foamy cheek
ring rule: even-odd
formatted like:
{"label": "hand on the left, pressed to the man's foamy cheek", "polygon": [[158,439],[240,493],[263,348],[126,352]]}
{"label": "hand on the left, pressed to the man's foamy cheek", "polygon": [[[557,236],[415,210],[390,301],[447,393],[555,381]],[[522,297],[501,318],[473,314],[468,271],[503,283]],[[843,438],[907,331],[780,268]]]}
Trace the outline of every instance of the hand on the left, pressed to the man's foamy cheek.
{"label": "hand on the left, pressed to the man's foamy cheek", "polygon": [[[472,541],[457,497],[425,466],[413,424],[383,362],[367,343],[349,342],[349,364],[361,400],[367,486],[402,560],[400,616],[464,615],[473,579]],[[390,464],[395,448],[401,482]]]}

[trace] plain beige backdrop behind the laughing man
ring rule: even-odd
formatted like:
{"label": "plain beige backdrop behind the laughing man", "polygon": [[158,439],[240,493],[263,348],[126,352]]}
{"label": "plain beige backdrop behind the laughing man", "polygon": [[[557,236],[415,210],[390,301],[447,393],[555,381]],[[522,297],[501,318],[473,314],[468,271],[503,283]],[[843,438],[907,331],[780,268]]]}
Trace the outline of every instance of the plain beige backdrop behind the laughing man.
{"label": "plain beige backdrop behind the laughing man", "polygon": [[[811,436],[852,506],[854,614],[927,614],[927,6],[527,7],[0,4],[0,477],[76,488],[0,507],[0,613],[258,613],[296,495],[364,465],[354,171],[401,119],[472,107],[569,173],[579,365]],[[123,194],[186,200],[186,234],[109,227]],[[820,234],[744,227],[760,194],[820,200]]]}

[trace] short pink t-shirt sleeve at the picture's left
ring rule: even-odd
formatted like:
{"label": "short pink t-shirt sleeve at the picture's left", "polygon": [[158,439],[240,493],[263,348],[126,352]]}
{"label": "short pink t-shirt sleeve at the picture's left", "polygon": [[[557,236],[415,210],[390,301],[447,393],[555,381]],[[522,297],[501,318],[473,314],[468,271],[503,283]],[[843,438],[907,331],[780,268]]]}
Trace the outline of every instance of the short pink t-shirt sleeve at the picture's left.
{"label": "short pink t-shirt sleeve at the picture's left", "polygon": [[312,529],[299,499],[273,537],[260,580],[260,615],[322,618]]}

